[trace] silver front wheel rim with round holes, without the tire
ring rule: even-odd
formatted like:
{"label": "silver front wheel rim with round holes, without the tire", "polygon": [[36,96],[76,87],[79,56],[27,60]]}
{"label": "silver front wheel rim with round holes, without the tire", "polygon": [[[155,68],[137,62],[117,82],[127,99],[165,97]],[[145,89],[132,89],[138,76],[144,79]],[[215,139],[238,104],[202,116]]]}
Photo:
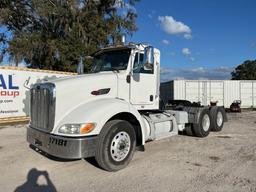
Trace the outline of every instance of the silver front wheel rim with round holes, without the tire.
{"label": "silver front wheel rim with round holes, without the tire", "polygon": [[122,131],[117,133],[112,141],[110,147],[110,154],[113,160],[122,161],[129,154],[131,148],[131,139],[128,133]]}

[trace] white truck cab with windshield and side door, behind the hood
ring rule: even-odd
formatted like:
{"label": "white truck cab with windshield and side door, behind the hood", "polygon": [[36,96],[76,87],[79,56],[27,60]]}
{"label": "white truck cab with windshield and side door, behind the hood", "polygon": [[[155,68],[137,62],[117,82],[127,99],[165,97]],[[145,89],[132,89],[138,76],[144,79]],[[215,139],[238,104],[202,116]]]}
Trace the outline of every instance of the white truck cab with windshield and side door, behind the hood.
{"label": "white truck cab with windshield and side door, behind the hood", "polygon": [[117,98],[129,102],[137,110],[158,109],[160,51],[151,47],[154,60],[146,68],[144,48],[141,44],[102,49],[94,54],[91,72],[115,73]]}

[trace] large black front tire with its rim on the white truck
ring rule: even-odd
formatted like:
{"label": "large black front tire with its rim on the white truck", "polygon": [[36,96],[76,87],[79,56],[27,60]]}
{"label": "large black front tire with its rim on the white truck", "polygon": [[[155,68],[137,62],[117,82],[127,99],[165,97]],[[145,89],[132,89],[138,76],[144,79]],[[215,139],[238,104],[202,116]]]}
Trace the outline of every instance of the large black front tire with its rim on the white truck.
{"label": "large black front tire with its rim on the white truck", "polygon": [[112,120],[102,128],[96,146],[95,159],[106,171],[118,171],[131,161],[136,146],[133,126],[123,120]]}

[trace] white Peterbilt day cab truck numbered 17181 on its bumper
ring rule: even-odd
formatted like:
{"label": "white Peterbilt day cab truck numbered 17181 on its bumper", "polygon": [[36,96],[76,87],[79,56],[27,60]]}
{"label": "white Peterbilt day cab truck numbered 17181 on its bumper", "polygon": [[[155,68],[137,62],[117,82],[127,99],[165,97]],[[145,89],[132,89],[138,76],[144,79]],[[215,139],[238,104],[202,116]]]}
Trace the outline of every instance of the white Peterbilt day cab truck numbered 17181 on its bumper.
{"label": "white Peterbilt day cab truck numbered 17181 on its bumper", "polygon": [[223,107],[161,104],[160,51],[145,44],[102,48],[89,74],[34,84],[27,141],[55,157],[95,157],[107,171],[128,165],[147,141],[220,131]]}

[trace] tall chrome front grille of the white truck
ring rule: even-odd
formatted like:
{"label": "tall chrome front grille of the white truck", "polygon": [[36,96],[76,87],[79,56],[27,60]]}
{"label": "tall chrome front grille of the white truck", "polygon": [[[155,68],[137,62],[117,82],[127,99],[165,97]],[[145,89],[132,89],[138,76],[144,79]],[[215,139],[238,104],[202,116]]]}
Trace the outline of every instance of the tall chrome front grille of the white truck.
{"label": "tall chrome front grille of the white truck", "polygon": [[30,126],[50,132],[55,118],[55,85],[35,84],[30,90]]}

